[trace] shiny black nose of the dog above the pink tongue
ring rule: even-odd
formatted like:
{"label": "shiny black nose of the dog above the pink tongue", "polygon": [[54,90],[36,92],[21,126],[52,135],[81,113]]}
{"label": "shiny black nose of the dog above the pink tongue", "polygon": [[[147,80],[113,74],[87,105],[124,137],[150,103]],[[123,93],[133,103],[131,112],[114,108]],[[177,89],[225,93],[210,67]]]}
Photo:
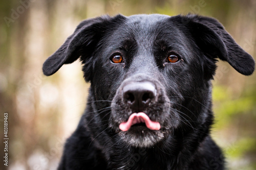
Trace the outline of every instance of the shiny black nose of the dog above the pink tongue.
{"label": "shiny black nose of the dog above the pink tongue", "polygon": [[135,112],[143,111],[157,95],[156,86],[151,82],[131,82],[123,87],[123,100]]}

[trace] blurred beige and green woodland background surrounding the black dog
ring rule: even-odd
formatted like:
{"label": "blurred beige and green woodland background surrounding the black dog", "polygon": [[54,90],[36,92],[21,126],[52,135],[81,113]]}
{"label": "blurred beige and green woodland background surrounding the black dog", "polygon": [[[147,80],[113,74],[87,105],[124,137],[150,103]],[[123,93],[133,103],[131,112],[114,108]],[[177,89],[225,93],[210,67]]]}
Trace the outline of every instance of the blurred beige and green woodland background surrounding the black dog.
{"label": "blurred beige and green woodland background surrounding the black dog", "polygon": [[[51,77],[42,63],[78,23],[103,14],[196,13],[217,18],[256,59],[256,1],[8,0],[0,1],[0,137],[8,113],[8,169],[56,169],[63,143],[86,106],[89,84],[79,61]],[[256,169],[256,74],[246,77],[224,62],[213,81],[212,136],[229,169]],[[1,146],[0,169],[4,143]]]}

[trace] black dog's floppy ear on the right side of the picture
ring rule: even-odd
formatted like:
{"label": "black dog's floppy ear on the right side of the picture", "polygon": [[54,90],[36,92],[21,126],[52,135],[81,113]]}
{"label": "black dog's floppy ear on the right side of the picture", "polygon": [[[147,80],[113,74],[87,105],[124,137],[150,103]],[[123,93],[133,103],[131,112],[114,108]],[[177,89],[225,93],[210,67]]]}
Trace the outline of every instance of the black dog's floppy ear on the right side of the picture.
{"label": "black dog's floppy ear on the right side of the picture", "polygon": [[227,61],[243,75],[251,75],[255,62],[223,28],[210,17],[187,15],[187,24],[199,48],[207,55]]}

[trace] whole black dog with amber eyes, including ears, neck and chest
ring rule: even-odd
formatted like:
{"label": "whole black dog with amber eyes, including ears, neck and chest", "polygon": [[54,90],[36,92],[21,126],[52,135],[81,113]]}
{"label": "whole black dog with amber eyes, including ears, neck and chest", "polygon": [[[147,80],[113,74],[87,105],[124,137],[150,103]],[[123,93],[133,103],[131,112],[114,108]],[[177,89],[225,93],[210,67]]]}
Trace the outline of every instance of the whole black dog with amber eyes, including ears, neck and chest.
{"label": "whole black dog with amber eyes, including ears, neck and chest", "polygon": [[58,169],[224,169],[209,135],[216,61],[251,75],[254,60],[216,19],[84,20],[46,60],[44,74],[79,57],[89,102]]}

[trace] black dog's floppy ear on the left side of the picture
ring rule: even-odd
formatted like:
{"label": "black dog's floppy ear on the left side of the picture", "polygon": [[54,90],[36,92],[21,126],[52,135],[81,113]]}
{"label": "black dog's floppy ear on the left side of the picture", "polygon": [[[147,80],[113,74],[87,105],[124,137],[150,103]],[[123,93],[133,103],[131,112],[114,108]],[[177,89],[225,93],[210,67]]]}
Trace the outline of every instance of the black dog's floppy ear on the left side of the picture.
{"label": "black dog's floppy ear on the left side of the picture", "polygon": [[[51,55],[42,66],[42,71],[46,76],[53,75],[63,64],[76,61],[80,56],[91,55],[92,49],[110,28],[113,20],[122,19],[124,16],[108,15],[93,19],[83,20],[76,28],[75,32],[67,38],[60,48]],[[85,54],[82,54],[85,53]],[[86,58],[84,57],[83,58]]]}

